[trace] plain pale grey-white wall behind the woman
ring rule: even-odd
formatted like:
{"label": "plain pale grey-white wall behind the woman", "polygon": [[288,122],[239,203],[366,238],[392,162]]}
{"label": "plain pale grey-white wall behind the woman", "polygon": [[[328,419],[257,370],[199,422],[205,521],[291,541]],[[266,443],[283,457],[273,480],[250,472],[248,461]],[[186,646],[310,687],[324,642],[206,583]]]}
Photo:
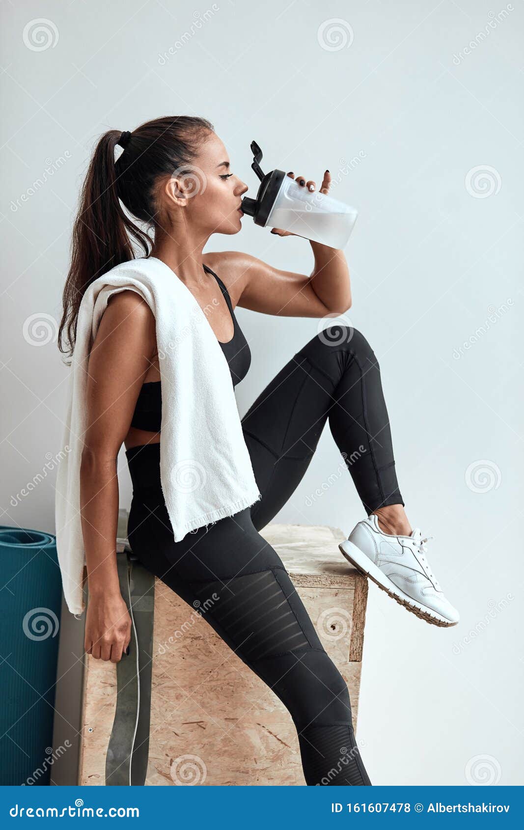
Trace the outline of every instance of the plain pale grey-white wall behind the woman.
{"label": "plain pale grey-white wall behind the woman", "polygon": [[[24,34],[41,17],[47,48]],[[54,473],[16,506],[12,494],[61,446],[68,369],[23,331],[32,315],[60,319],[98,136],[204,115],[251,196],[252,139],[264,170],[320,183],[330,168],[333,195],[360,211],[350,320],[380,360],[406,510],[436,537],[430,562],[462,613],[429,626],[370,586],[365,764],[374,784],[522,784],[522,2],[26,0],[3,3],[2,24],[0,521],[54,532]],[[313,264],[308,242],[248,217],[208,250],[230,247]],[[243,414],[317,321],[238,320],[252,349]],[[347,471],[306,506],[340,461],[326,427],[276,520],[349,533],[365,514]],[[129,507],[123,452],[120,470]]]}

